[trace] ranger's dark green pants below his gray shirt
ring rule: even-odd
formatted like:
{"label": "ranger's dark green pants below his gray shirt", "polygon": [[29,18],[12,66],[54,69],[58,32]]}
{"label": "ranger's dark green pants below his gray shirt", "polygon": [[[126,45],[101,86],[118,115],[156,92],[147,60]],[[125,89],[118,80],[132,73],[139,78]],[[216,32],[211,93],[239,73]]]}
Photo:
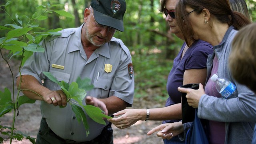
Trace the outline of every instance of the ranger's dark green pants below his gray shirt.
{"label": "ranger's dark green pants below his gray shirt", "polygon": [[[98,136],[94,140],[90,142],[74,142],[69,140],[64,140],[57,136],[46,123],[46,120],[42,118],[40,123],[39,132],[36,137],[36,144],[102,144],[101,137]],[[113,144],[113,136],[112,141],[109,144]]]}

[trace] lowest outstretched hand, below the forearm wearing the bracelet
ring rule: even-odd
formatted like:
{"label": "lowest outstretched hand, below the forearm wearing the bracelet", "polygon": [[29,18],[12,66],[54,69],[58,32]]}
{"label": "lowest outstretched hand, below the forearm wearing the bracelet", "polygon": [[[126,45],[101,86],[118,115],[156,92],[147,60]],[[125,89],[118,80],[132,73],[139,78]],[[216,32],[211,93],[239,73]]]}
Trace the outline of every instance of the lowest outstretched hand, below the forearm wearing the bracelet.
{"label": "lowest outstretched hand, below the forearm wearing the bracelet", "polygon": [[174,123],[167,123],[167,124],[161,124],[152,130],[150,130],[147,135],[151,135],[154,132],[156,133],[156,136],[162,137],[162,139],[168,139],[170,140],[174,136],[177,136],[178,134],[183,132],[183,124],[182,122],[174,122]]}

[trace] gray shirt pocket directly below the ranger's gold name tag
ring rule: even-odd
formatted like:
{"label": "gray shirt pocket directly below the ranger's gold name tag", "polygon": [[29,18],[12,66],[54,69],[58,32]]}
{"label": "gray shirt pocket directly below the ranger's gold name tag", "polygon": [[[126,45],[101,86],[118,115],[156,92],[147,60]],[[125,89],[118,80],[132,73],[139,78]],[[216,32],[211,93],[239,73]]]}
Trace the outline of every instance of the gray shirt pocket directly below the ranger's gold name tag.
{"label": "gray shirt pocket directly below the ranger's gold name tag", "polygon": [[[50,70],[50,73],[52,74],[52,76],[54,76],[54,78],[56,78],[59,82],[61,82],[62,80],[66,83],[69,82],[70,80],[70,74],[66,73],[66,72],[60,72],[57,70]],[[49,88],[50,90],[60,90],[60,86],[58,84],[56,84],[55,82],[52,82],[49,78],[46,77],[46,79],[44,80],[44,86]]]}

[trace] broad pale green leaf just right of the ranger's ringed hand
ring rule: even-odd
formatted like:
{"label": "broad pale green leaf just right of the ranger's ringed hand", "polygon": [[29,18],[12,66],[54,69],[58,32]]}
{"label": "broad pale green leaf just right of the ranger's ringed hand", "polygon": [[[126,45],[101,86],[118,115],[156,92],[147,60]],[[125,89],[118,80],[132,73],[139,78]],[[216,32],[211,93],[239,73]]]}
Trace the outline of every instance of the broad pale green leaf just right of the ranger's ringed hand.
{"label": "broad pale green leaf just right of the ranger's ringed hand", "polygon": [[69,86],[68,91],[70,92],[70,98],[76,100],[80,106],[83,106],[82,100],[84,100],[84,97],[86,95],[86,92],[84,89],[78,88],[78,84],[76,82],[72,82]]}

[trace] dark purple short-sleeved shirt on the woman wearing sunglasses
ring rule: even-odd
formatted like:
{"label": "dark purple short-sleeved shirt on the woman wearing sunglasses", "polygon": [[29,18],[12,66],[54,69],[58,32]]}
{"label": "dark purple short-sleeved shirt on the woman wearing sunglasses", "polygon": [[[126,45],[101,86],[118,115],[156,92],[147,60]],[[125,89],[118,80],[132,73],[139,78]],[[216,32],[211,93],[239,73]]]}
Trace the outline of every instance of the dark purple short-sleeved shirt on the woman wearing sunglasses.
{"label": "dark purple short-sleeved shirt on the woman wearing sunglasses", "polygon": [[[166,106],[181,102],[181,93],[178,87],[183,85],[183,75],[185,70],[206,68],[206,61],[209,54],[212,54],[212,45],[202,40],[196,40],[186,51],[183,58],[182,52],[186,43],[182,45],[178,56],[173,61],[173,67],[167,80],[167,92],[170,96],[166,101]],[[172,123],[180,120],[168,120],[163,123]]]}

